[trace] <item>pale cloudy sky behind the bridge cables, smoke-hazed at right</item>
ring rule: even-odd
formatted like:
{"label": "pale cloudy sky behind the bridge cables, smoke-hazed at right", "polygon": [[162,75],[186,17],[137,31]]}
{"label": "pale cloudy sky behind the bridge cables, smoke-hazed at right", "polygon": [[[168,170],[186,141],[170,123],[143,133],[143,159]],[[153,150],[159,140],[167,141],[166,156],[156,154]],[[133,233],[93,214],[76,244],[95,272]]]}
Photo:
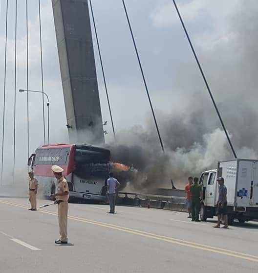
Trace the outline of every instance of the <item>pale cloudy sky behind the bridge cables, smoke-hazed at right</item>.
{"label": "pale cloudy sky behind the bridge cables, smoke-hazed at right", "polygon": [[[214,107],[176,15],[172,0],[126,0],[132,29],[161,137],[170,151],[205,143],[205,134],[218,132]],[[14,131],[14,15],[9,0],[4,170],[13,160]],[[29,89],[42,90],[38,1],[29,3]],[[131,41],[121,0],[92,0],[115,129],[124,136],[139,130],[158,144],[150,107]],[[237,151],[256,156],[257,28],[256,0],[177,0],[222,117]],[[41,0],[43,30],[43,83],[50,97],[50,141],[67,142],[64,98],[57,53],[51,0]],[[4,86],[5,6],[0,0],[0,136]],[[26,33],[25,0],[18,1],[17,149],[16,164],[24,166],[26,148]],[[108,104],[93,33],[103,121],[108,121],[106,141],[112,141]],[[198,113],[196,115],[196,113]],[[30,153],[43,144],[42,97],[30,94]],[[181,119],[185,117],[185,119]],[[199,123],[193,123],[193,118]],[[175,121],[184,124],[180,134]],[[200,122],[201,121],[201,122]],[[253,123],[251,123],[253,122]],[[251,124],[252,125],[251,125]],[[189,124],[193,125],[191,131]],[[196,125],[197,124],[197,125]],[[172,126],[173,125],[173,126]],[[196,125],[196,126],[195,126]],[[202,126],[203,125],[203,126]],[[200,127],[198,127],[200,126]],[[186,129],[186,127],[188,129]],[[136,128],[136,129],[135,129]],[[193,136],[192,136],[193,132]],[[198,134],[201,133],[201,135]],[[175,134],[174,134],[175,133]],[[220,131],[218,132],[220,134]],[[184,137],[182,137],[184,134]],[[185,135],[189,136],[189,139]],[[224,141],[224,135],[221,137]],[[220,139],[219,138],[219,139]],[[134,139],[134,138],[133,138]],[[207,136],[206,136],[207,140]],[[135,139],[137,142],[137,138]],[[190,141],[190,142],[189,142]],[[154,143],[152,142],[152,143]],[[216,142],[216,139],[215,139]],[[223,149],[226,142],[223,142]],[[135,143],[137,144],[137,143]],[[141,145],[141,143],[138,143]],[[207,143],[206,143],[207,144]],[[205,144],[205,145],[206,145]],[[207,145],[205,146],[207,148]],[[196,148],[196,147],[195,147]],[[227,148],[225,148],[227,150]],[[225,150],[224,149],[224,150]],[[246,150],[247,149],[247,150]],[[252,152],[251,152],[252,151]],[[228,152],[227,152],[228,153]],[[219,155],[218,155],[219,156]],[[187,160],[187,159],[181,159]]]}

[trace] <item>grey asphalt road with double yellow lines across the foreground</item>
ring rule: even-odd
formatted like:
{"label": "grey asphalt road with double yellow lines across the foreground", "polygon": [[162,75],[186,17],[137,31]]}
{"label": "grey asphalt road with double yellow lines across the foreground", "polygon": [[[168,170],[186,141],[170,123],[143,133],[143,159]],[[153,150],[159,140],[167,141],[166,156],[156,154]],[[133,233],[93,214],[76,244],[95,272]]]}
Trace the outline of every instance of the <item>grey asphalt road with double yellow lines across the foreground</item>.
{"label": "grey asphalt road with double yellow lines across the foreground", "polygon": [[69,204],[69,244],[55,245],[56,205],[27,208],[0,198],[0,273],[258,272],[258,223],[215,229],[186,213]]}

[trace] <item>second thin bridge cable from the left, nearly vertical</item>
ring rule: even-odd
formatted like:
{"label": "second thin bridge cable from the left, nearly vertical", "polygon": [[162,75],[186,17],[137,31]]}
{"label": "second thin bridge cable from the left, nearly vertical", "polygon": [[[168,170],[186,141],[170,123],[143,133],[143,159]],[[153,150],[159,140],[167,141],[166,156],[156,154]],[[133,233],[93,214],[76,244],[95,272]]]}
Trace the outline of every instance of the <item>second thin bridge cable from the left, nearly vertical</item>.
{"label": "second thin bridge cable from the left, nearly vertical", "polygon": [[15,182],[15,141],[16,141],[16,73],[17,73],[17,0],[15,0],[15,57],[14,57],[14,142],[13,142],[13,183]]}

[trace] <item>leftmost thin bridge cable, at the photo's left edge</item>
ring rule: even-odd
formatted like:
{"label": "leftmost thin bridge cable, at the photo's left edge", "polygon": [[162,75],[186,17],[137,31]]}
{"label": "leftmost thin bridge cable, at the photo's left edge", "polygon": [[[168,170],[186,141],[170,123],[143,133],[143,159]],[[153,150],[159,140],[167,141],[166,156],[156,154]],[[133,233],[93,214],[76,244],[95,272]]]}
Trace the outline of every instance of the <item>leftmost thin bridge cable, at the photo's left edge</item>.
{"label": "leftmost thin bridge cable, at the photo's left edge", "polygon": [[4,152],[4,123],[5,123],[5,94],[6,94],[6,60],[7,60],[7,25],[8,25],[8,0],[6,0],[5,23],[5,55],[4,55],[4,84],[3,84],[3,122],[2,122],[2,161],[1,161],[1,185],[3,177],[3,152]]}

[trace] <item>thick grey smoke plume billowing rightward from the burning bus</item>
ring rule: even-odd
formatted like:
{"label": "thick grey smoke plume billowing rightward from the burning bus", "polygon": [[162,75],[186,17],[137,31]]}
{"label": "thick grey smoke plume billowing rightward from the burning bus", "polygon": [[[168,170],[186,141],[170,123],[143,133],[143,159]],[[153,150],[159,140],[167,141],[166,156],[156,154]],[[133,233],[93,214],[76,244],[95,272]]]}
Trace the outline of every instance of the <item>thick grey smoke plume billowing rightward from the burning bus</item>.
{"label": "thick grey smoke plume billowing rightward from the burning bus", "polygon": [[[257,159],[258,3],[248,3],[248,9],[245,3],[239,5],[229,20],[228,34],[233,40],[215,45],[200,57],[238,158]],[[109,145],[113,161],[138,171],[131,177],[125,174],[124,188],[171,188],[171,179],[182,188],[188,176],[199,176],[216,168],[218,160],[234,158],[204,85],[202,90],[195,89],[199,79],[187,67],[178,76],[185,89],[184,101],[178,104],[184,102],[187,107],[169,114],[157,111],[166,153],[161,152],[151,114],[147,128],[135,126],[119,132],[117,143]]]}

